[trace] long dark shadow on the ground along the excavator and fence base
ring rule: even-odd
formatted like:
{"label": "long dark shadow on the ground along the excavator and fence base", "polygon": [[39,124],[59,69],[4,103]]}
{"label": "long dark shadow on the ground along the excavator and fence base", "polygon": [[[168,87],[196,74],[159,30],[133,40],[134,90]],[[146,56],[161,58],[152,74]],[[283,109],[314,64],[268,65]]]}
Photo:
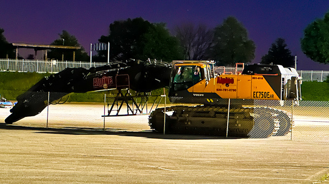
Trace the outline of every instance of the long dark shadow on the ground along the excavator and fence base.
{"label": "long dark shadow on the ground along the excavator and fence base", "polygon": [[150,139],[175,139],[175,140],[204,140],[204,139],[243,139],[241,137],[219,137],[219,136],[204,136],[204,135],[179,135],[179,134],[163,134],[154,132],[152,130],[145,131],[127,131],[126,129],[115,128],[43,128],[43,127],[23,127],[15,124],[0,123],[0,129],[16,129],[16,130],[36,130],[35,133],[49,133],[49,134],[67,134],[67,135],[119,135],[119,136],[133,136],[145,137]]}

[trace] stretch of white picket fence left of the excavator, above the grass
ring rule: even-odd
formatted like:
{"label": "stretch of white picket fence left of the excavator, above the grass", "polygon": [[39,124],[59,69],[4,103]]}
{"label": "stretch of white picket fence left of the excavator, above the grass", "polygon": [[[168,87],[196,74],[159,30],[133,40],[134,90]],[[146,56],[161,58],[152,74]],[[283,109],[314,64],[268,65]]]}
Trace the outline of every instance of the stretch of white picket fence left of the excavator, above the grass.
{"label": "stretch of white picket fence left of the excavator, above the grass", "polygon": [[103,66],[105,63],[85,61],[58,61],[58,60],[29,60],[29,59],[0,59],[0,71],[57,73],[66,68],[85,68]]}

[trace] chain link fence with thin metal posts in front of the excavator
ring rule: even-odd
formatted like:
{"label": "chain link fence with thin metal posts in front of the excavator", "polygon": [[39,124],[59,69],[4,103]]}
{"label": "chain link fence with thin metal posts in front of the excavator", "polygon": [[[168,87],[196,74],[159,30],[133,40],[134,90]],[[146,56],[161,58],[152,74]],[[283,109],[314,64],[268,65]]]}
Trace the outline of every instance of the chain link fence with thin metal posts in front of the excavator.
{"label": "chain link fence with thin metal posts in front of the excavator", "polygon": [[25,99],[14,108],[8,103],[0,106],[0,123],[11,112],[18,114],[12,126],[99,131],[151,131],[152,127],[159,133],[165,128],[166,133],[329,143],[328,101],[284,101],[282,106],[277,100],[191,98],[190,104],[182,104],[180,98],[117,97],[109,91],[1,90],[0,94],[13,104]]}

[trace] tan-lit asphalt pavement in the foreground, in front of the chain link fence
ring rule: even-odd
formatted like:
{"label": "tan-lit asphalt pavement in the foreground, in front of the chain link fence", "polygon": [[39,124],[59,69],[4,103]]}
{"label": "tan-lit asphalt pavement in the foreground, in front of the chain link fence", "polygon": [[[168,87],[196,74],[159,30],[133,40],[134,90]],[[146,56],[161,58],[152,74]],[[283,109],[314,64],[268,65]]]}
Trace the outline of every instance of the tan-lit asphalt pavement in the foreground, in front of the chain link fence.
{"label": "tan-lit asphalt pavement in the foreground, in front of the chain link fence", "polygon": [[0,140],[0,183],[305,184],[329,173],[329,144],[288,138],[0,123]]}

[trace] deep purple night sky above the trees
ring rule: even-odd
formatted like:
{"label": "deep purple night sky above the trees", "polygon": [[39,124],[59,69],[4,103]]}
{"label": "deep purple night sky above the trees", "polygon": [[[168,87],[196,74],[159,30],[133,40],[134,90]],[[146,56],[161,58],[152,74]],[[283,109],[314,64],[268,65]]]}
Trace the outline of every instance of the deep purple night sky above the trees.
{"label": "deep purple night sky above the trees", "polygon": [[329,65],[313,62],[300,49],[304,28],[323,18],[328,0],[7,0],[0,10],[0,28],[8,42],[50,44],[67,30],[87,53],[90,43],[108,35],[115,20],[142,17],[151,23],[164,22],[169,29],[192,21],[214,28],[234,16],[256,44],[253,62],[260,62],[271,43],[281,37],[297,55],[298,70],[329,70]]}

